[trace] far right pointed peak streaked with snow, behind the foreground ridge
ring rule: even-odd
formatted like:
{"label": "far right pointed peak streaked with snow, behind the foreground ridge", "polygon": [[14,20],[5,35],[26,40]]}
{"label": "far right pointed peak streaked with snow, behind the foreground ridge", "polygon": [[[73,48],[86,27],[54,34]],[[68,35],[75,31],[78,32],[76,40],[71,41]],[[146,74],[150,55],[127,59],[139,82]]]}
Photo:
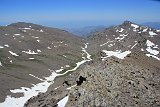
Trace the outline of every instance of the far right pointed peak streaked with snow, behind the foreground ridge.
{"label": "far right pointed peak streaked with snow, behind the foreground ridge", "polygon": [[[139,26],[129,21],[122,25],[97,32],[90,37],[89,52],[96,54],[99,51],[106,54],[122,52],[142,52],[146,56],[160,60],[160,30],[147,26]],[[107,50],[107,51],[106,51]]]}

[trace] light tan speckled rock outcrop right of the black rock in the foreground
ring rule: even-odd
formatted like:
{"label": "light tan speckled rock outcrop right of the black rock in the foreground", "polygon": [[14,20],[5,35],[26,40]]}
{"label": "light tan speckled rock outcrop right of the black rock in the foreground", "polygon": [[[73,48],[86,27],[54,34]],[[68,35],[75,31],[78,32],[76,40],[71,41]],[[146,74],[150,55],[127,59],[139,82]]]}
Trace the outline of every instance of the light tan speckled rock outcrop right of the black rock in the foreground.
{"label": "light tan speckled rock outcrop right of the black rock in the foreground", "polygon": [[66,107],[160,106],[159,71],[111,58],[80,75],[87,81],[71,89]]}

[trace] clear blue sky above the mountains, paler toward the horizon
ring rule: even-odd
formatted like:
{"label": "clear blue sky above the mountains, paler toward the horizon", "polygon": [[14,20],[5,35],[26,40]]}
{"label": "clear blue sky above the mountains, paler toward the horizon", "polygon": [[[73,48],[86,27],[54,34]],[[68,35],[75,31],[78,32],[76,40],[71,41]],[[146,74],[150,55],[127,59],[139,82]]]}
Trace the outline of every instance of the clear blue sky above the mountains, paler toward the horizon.
{"label": "clear blue sky above the mountains, paler toward the horizon", "polygon": [[160,22],[159,0],[0,0],[0,24],[53,27]]}

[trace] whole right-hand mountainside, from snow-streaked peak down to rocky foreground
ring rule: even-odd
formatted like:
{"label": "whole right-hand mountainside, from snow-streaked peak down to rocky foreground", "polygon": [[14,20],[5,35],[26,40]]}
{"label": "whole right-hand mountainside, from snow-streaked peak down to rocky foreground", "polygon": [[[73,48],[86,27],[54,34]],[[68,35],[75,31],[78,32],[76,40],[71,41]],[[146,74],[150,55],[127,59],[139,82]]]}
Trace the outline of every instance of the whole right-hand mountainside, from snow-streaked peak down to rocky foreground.
{"label": "whole right-hand mountainside, from snow-streaked peak down to rocky foreground", "polygon": [[66,70],[74,72],[57,76],[46,93],[32,97],[24,106],[158,107],[159,40],[160,30],[129,21],[96,32],[84,46],[79,41],[82,60]]}

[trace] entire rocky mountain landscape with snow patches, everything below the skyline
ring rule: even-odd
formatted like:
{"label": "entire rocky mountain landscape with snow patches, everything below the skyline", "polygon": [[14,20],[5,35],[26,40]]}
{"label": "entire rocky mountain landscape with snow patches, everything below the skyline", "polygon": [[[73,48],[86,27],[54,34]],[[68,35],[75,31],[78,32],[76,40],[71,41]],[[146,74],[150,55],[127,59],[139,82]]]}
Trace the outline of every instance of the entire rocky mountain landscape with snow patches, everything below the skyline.
{"label": "entire rocky mountain landscape with snow patches, everything below the skyline", "polygon": [[158,107],[159,52],[160,30],[130,21],[86,38],[1,26],[0,107]]}

